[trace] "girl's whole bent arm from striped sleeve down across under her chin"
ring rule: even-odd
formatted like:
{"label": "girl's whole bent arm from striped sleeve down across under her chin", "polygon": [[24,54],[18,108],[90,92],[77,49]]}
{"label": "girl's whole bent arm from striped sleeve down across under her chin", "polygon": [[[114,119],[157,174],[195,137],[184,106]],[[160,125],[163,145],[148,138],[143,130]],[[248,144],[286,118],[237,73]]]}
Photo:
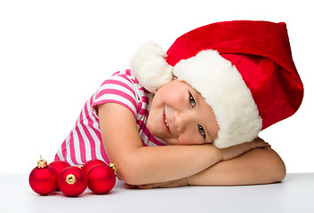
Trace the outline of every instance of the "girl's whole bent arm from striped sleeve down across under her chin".
{"label": "girl's whole bent arm from striped sleeve down across under her chin", "polygon": [[[98,106],[101,136],[110,162],[117,162],[117,176],[130,185],[160,183],[190,177],[248,151],[227,154],[212,145],[142,146],[135,118],[125,106]],[[267,146],[263,142],[257,146]]]}

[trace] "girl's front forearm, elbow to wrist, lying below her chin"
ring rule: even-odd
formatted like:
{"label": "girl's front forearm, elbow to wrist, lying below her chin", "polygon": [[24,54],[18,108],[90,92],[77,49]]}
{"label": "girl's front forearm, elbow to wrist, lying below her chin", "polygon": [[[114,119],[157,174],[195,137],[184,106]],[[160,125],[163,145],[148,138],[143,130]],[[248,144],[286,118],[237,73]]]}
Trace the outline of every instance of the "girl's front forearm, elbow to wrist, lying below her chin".
{"label": "girl's front forearm, elbow to wrist, lying below her chin", "polygon": [[118,175],[126,183],[144,185],[189,177],[220,162],[221,152],[214,146],[139,147],[120,158]]}

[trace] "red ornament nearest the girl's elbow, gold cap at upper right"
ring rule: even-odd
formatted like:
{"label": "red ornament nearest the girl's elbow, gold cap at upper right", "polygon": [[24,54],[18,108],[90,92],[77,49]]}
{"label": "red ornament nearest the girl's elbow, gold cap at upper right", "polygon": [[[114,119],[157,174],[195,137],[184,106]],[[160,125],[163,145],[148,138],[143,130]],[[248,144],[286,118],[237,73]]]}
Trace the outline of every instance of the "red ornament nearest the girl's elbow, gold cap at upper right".
{"label": "red ornament nearest the girl's elbow, gold cap at upper right", "polygon": [[88,187],[93,193],[109,193],[116,184],[116,165],[110,163],[94,165],[87,172]]}

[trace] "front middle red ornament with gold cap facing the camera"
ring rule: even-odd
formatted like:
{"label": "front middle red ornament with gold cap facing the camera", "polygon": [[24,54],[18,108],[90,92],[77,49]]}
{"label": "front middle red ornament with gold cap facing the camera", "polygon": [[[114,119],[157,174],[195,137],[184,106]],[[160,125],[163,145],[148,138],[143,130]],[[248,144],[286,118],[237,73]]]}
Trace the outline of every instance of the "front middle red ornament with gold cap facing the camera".
{"label": "front middle red ornament with gold cap facing the camera", "polygon": [[69,166],[60,172],[58,185],[62,193],[75,197],[84,193],[87,187],[87,177],[81,168]]}

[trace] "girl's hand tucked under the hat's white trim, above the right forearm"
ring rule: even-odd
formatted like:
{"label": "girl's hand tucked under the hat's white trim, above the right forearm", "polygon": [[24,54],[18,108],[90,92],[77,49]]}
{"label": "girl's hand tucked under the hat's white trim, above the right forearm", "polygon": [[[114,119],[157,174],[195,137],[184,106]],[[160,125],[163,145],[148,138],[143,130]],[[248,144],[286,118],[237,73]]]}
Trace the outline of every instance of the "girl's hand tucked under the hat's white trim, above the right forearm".
{"label": "girl's hand tucked under the hat's white trim, above the right forearm", "polygon": [[236,158],[241,154],[245,154],[254,148],[262,148],[269,146],[269,143],[265,142],[262,138],[256,138],[251,142],[246,142],[236,146],[230,146],[228,148],[221,149],[222,161],[227,161],[232,158]]}

